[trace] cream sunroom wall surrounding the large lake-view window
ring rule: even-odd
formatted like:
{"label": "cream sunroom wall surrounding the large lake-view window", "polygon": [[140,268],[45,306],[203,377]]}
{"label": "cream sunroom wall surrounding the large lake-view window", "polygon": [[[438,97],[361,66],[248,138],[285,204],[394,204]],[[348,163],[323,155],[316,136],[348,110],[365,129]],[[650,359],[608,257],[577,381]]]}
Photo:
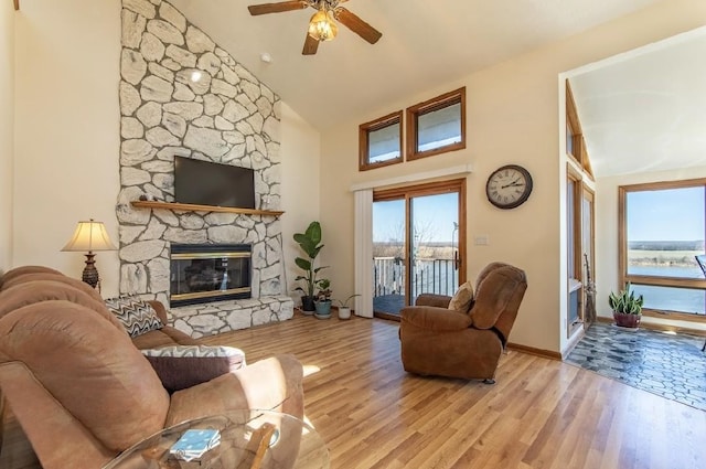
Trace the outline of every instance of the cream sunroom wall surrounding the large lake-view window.
{"label": "cream sunroom wall surrounding the large lake-view window", "polygon": [[[598,316],[612,318],[612,311],[608,306],[608,295],[621,288],[620,271],[618,269],[618,188],[628,184],[678,181],[694,178],[706,178],[706,167],[623,174],[601,178],[596,181],[596,190],[599,194],[596,198],[596,218],[600,221],[600,224],[597,223],[596,226],[596,309]],[[674,321],[646,316],[643,316],[642,321],[677,328],[706,330],[706,324],[696,322]]]}

